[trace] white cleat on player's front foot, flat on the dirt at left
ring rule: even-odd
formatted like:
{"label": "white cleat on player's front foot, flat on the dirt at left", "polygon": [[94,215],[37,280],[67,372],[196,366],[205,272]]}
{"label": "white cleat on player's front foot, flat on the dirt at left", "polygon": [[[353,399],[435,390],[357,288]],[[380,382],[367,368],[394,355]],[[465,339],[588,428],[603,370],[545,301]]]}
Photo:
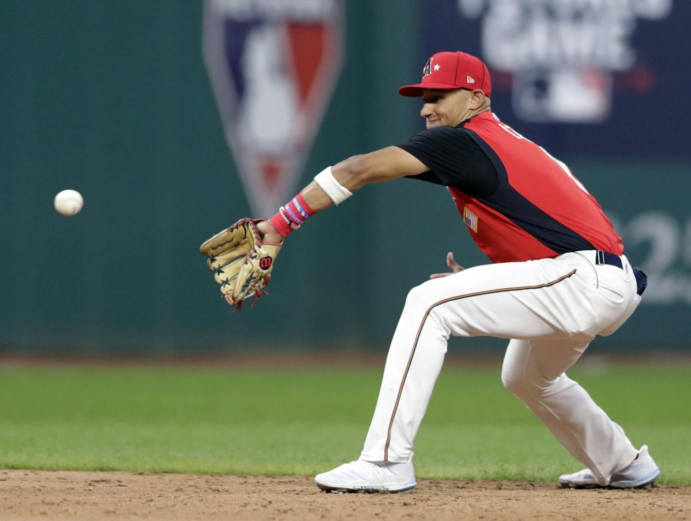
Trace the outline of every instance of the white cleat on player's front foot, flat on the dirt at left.
{"label": "white cleat on player's front foot, flat on the dirt at left", "polygon": [[417,485],[412,463],[364,460],[317,474],[314,483],[327,492],[410,492]]}

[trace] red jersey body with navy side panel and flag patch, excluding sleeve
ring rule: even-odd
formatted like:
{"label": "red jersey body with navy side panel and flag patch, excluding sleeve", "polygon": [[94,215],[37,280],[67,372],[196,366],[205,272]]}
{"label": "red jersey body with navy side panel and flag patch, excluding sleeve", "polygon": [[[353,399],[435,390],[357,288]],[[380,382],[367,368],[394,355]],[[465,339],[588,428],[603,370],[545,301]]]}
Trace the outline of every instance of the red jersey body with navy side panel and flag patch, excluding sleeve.
{"label": "red jersey body with navy side panel and flag patch, excluding sleeve", "polygon": [[495,263],[556,257],[579,249],[621,255],[602,207],[541,146],[484,112],[462,124],[493,162],[498,189],[471,197],[448,187],[475,243]]}

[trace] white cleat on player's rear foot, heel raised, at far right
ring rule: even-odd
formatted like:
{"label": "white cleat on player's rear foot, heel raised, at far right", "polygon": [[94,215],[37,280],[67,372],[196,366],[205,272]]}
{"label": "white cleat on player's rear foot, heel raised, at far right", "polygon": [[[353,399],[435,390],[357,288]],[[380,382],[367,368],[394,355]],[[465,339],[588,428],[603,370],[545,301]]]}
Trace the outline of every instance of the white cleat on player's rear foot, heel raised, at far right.
{"label": "white cleat on player's rear foot, heel raised, at far right", "polygon": [[559,476],[562,489],[649,489],[660,475],[660,469],[647,451],[647,445],[638,451],[638,457],[626,468],[621,469],[609,480],[607,486],[598,484],[591,471],[583,471]]}

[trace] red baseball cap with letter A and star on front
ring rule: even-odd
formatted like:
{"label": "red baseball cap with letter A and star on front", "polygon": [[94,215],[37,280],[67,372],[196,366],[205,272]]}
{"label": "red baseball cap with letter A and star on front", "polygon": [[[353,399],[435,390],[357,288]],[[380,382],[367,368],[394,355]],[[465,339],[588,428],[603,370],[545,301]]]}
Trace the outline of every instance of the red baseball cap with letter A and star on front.
{"label": "red baseball cap with letter A and star on front", "polygon": [[403,96],[418,97],[423,88],[479,88],[487,96],[492,95],[489,70],[480,58],[457,50],[432,55],[422,69],[422,82],[398,89]]}

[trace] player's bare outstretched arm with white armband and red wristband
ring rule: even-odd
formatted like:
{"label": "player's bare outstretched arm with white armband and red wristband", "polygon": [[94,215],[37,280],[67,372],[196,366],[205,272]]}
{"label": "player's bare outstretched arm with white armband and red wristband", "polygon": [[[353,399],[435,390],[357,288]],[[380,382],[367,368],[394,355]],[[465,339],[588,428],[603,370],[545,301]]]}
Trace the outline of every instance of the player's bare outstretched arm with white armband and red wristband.
{"label": "player's bare outstretched arm with white armband and red wristband", "polygon": [[257,229],[263,240],[280,242],[307,217],[338,205],[366,184],[416,176],[428,170],[414,155],[397,146],[354,155],[319,173],[288,205],[281,207],[276,216],[258,222]]}

